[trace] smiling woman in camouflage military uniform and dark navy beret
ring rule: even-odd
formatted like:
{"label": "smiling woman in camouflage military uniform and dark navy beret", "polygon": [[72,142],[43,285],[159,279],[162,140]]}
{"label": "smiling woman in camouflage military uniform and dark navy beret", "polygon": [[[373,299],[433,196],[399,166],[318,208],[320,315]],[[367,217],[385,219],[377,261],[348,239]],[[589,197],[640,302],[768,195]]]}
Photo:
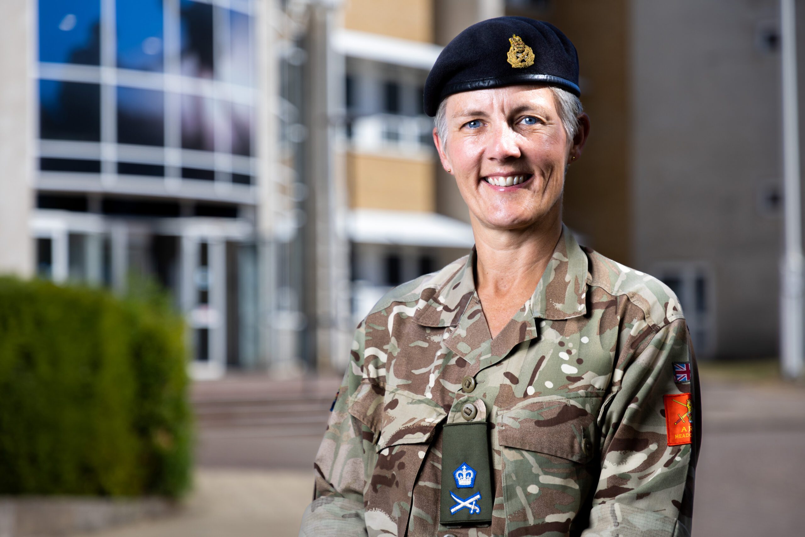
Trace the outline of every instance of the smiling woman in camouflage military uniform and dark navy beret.
{"label": "smiling woman in camouflage military uniform and dark navy beret", "polygon": [[682,309],[562,223],[589,133],[578,75],[568,38],[522,17],[436,61],[425,110],[475,247],[358,326],[300,535],[690,534]]}

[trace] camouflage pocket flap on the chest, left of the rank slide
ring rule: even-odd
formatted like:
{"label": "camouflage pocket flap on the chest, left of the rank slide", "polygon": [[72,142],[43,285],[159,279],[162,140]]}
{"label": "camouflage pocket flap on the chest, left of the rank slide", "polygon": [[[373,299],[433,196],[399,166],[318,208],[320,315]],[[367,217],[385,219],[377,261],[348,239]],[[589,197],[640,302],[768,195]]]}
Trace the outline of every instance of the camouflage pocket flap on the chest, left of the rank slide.
{"label": "camouflage pocket flap on the chest, left of the rank slide", "polygon": [[430,441],[448,415],[432,399],[406,391],[388,394],[384,403],[378,452],[392,445]]}

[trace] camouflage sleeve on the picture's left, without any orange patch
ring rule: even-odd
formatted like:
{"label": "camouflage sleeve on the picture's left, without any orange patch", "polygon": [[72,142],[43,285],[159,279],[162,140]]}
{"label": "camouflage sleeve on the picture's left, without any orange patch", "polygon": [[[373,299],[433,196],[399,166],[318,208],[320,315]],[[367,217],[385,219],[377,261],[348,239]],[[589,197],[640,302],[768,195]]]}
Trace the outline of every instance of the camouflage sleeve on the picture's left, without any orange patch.
{"label": "camouflage sleeve on the picture's left, without any orange patch", "polygon": [[349,414],[356,392],[365,385],[364,344],[365,323],[361,323],[355,332],[349,365],[333,403],[324,440],[316,454],[313,502],[304,511],[299,537],[366,535],[363,494],[365,469],[374,466],[369,460],[374,455],[371,446],[374,433]]}

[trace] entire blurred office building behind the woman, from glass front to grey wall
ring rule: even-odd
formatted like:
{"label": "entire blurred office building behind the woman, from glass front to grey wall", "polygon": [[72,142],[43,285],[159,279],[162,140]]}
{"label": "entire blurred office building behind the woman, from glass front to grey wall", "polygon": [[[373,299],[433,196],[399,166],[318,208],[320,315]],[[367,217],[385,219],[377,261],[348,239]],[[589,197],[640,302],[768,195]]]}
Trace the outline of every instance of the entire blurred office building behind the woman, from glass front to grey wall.
{"label": "entire blurred office building behind the woman, from glass front to grey wall", "polygon": [[564,218],[581,242],[674,288],[700,356],[777,352],[776,0],[0,12],[0,271],[157,279],[198,378],[341,370],[383,293],[468,252],[422,91],[452,37],[502,14],[555,23],[579,50],[592,135]]}

